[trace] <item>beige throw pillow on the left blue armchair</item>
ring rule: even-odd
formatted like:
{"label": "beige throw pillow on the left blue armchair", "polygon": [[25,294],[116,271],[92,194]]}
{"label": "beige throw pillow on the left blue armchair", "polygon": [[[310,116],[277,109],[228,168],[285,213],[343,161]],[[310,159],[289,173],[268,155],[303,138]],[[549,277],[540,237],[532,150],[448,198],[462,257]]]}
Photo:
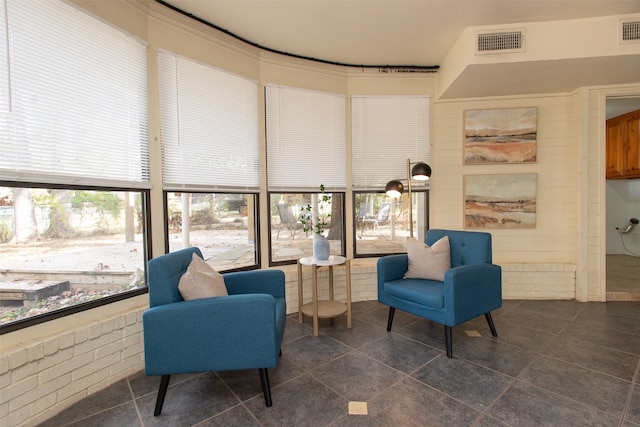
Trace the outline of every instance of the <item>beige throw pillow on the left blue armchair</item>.
{"label": "beige throw pillow on the left blue armchair", "polygon": [[224,277],[195,253],[178,283],[178,290],[185,301],[228,295]]}

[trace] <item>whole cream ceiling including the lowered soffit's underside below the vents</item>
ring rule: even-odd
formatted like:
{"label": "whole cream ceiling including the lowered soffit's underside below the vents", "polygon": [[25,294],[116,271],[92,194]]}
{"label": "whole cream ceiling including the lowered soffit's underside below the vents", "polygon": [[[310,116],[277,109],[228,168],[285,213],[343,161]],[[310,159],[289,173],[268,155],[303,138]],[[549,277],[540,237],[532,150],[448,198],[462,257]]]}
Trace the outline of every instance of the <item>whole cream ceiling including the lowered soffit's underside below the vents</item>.
{"label": "whole cream ceiling including the lowered soffit's underside below the vents", "polygon": [[[640,13],[640,0],[156,1],[266,49],[357,66],[439,66],[468,27]],[[440,96],[571,92],[640,81],[640,55],[586,60],[469,66]]]}

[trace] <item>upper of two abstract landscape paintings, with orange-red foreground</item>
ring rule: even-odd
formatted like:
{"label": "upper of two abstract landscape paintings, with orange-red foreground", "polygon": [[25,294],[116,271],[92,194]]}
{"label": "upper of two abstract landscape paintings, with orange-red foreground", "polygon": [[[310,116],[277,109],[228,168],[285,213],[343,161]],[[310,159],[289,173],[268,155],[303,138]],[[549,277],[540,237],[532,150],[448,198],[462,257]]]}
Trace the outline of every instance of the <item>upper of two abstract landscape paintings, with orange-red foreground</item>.
{"label": "upper of two abstract landscape paintings, with orange-red foreground", "polygon": [[464,164],[536,161],[538,109],[500,108],[464,112]]}

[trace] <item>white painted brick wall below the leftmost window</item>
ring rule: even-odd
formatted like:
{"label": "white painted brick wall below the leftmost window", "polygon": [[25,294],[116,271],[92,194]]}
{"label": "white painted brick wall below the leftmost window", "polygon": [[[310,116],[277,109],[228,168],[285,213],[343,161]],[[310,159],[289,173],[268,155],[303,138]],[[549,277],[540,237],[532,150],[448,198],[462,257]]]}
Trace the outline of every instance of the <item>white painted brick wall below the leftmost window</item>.
{"label": "white painted brick wall below the leftmost window", "polygon": [[0,425],[36,425],[144,369],[143,311],[100,320],[24,348],[3,349]]}

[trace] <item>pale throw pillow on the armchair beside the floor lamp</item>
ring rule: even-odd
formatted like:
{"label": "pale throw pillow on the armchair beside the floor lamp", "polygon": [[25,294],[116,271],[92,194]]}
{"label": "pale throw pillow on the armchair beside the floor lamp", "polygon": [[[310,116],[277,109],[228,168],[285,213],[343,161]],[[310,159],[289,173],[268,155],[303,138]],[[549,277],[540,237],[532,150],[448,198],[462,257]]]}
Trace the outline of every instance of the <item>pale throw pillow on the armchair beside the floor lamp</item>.
{"label": "pale throw pillow on the armchair beside the floor lamp", "polygon": [[451,268],[449,237],[444,236],[433,246],[410,238],[407,240],[409,268],[405,279],[444,281],[444,273]]}

